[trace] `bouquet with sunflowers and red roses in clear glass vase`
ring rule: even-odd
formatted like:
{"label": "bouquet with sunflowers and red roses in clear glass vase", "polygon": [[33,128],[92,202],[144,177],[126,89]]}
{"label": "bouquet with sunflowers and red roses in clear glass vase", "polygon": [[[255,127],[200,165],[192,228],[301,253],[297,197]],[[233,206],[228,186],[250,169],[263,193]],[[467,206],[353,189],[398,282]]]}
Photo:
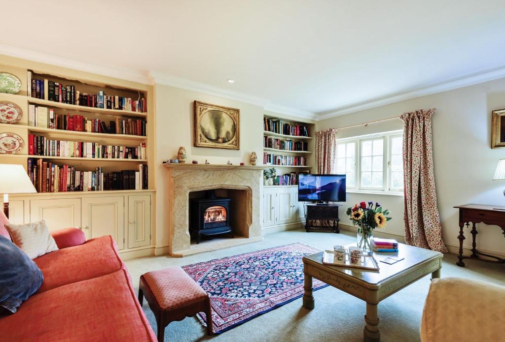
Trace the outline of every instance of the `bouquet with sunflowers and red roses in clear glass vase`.
{"label": "bouquet with sunflowers and red roses in clear glass vase", "polygon": [[386,222],[391,220],[389,211],[383,210],[379,203],[370,201],[368,206],[366,202],[355,204],[354,207],[347,208],[345,214],[352,221],[353,226],[358,226],[358,247],[363,248],[364,252],[372,254],[373,231],[375,228],[386,227]]}

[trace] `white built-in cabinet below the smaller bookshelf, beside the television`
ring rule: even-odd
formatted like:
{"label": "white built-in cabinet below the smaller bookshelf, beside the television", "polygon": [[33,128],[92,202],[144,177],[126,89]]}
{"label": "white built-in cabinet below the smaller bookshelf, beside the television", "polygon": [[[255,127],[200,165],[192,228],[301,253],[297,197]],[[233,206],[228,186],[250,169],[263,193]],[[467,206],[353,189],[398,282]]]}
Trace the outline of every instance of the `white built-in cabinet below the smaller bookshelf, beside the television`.
{"label": "white built-in cabinet below the smaller bookshelf, beside the television", "polygon": [[263,228],[305,222],[304,204],[298,202],[296,186],[272,186],[263,189]]}

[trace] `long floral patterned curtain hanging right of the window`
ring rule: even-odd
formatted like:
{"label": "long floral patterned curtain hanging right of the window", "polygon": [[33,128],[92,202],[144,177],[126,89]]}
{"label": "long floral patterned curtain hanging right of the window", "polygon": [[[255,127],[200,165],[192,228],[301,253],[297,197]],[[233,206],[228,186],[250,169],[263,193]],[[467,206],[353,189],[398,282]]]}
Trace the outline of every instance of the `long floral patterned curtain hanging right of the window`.
{"label": "long floral patterned curtain hanging right of the window", "polygon": [[421,109],[400,116],[403,120],[405,241],[446,253],[433,173],[431,116],[434,112],[434,109]]}

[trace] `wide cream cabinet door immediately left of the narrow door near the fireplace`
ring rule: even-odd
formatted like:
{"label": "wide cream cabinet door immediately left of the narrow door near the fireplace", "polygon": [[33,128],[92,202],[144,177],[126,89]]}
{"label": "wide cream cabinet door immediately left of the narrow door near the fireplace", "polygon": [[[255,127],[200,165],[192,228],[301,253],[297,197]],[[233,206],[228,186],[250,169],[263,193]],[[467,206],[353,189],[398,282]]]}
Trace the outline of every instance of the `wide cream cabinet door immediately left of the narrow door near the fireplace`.
{"label": "wide cream cabinet door immediately left of the narrow door near the fireplace", "polygon": [[111,235],[124,249],[124,197],[83,197],[82,231],[86,239]]}

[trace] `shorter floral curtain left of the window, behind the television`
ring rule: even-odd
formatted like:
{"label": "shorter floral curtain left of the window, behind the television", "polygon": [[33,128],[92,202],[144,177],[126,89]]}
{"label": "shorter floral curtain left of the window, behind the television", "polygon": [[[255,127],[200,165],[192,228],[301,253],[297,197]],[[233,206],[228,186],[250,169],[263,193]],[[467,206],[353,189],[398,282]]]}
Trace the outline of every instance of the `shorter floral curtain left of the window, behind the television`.
{"label": "shorter floral curtain left of the window, behind the television", "polygon": [[330,174],[335,169],[336,134],[336,128],[328,128],[316,132],[317,173]]}

